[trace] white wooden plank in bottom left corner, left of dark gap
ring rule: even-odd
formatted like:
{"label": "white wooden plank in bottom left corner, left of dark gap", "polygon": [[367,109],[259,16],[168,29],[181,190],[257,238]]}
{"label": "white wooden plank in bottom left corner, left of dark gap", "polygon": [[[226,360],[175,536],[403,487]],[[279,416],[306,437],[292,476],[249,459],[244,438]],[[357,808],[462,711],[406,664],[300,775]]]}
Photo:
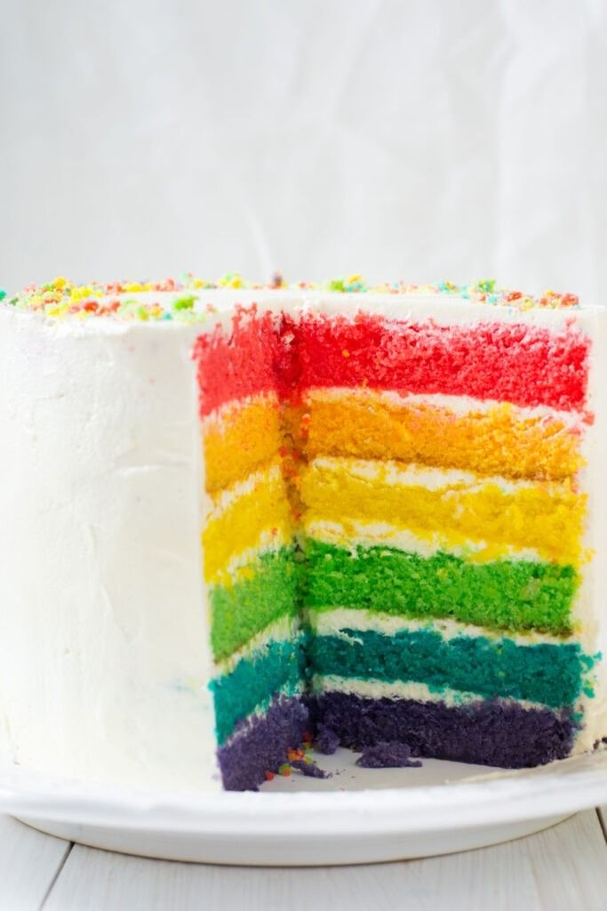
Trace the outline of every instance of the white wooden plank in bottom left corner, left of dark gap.
{"label": "white wooden plank in bottom left corner, left of dark gap", "polygon": [[0,814],[0,908],[38,911],[69,853],[70,843]]}

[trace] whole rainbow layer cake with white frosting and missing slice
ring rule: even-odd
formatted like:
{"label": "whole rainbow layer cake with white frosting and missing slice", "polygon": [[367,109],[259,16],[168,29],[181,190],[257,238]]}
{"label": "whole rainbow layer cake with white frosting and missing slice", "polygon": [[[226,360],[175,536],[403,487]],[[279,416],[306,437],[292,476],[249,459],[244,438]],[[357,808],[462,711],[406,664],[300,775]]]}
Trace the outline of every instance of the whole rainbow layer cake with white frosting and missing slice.
{"label": "whole rainbow layer cake with white frosting and missing slice", "polygon": [[600,746],[606,354],[602,307],[492,281],[5,298],[15,761],[243,790],[319,732],[506,768]]}

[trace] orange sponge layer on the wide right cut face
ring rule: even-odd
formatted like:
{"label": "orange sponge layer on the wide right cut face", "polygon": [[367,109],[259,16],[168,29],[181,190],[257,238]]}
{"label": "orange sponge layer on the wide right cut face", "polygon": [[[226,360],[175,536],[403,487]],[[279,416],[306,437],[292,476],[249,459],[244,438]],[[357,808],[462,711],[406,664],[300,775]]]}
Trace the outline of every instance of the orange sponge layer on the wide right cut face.
{"label": "orange sponge layer on the wide right cut face", "polygon": [[319,390],[288,420],[310,458],[388,458],[540,480],[563,480],[582,466],[581,434],[571,418],[508,403],[468,407],[456,411],[371,390]]}

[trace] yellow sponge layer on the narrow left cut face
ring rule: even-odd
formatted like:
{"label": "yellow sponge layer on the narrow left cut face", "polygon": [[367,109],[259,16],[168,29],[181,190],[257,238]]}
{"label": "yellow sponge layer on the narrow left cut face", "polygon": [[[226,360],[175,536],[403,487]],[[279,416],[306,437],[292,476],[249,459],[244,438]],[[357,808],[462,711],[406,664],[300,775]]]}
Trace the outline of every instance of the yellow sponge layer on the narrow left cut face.
{"label": "yellow sponge layer on the narrow left cut face", "polygon": [[293,534],[285,484],[276,464],[221,491],[202,533],[207,583],[231,584],[234,558],[288,542]]}

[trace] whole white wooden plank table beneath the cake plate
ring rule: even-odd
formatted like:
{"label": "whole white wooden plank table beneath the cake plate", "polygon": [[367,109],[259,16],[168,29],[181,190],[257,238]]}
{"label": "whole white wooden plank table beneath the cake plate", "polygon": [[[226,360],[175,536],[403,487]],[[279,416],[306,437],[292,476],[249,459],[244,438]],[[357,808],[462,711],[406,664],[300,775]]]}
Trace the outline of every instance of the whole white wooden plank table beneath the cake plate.
{"label": "whole white wooden plank table beneath the cake plate", "polygon": [[399,864],[255,869],[108,854],[0,815],[2,911],[604,911],[607,807],[537,835]]}

